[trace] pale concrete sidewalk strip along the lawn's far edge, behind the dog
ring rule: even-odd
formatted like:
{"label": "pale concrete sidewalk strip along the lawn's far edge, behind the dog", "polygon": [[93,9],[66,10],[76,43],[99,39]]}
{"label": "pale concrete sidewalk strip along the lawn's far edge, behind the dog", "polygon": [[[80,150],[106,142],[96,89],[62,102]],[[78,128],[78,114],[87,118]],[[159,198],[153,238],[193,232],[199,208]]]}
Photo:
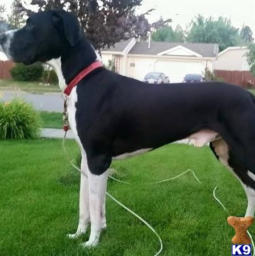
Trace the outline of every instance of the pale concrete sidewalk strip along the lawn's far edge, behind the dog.
{"label": "pale concrete sidewalk strip along the lawn's far edge, behind the dog", "polygon": [[[64,138],[64,130],[62,129],[51,129],[51,128],[44,128],[42,129],[42,135],[41,137],[46,137],[46,138]],[[66,139],[74,139],[74,134],[71,130],[69,130],[66,134]],[[181,141],[176,141],[174,143],[178,144],[189,144],[193,145],[194,140],[191,139],[189,142],[189,139],[182,139]]]}

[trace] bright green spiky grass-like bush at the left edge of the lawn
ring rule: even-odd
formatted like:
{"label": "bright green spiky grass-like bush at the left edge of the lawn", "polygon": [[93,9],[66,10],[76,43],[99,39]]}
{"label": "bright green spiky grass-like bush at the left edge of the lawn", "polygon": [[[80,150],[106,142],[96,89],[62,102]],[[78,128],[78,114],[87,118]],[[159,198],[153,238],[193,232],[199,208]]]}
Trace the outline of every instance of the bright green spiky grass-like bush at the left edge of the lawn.
{"label": "bright green spiky grass-like bush at the left edge of the lawn", "polygon": [[22,98],[0,101],[0,139],[37,139],[41,118]]}

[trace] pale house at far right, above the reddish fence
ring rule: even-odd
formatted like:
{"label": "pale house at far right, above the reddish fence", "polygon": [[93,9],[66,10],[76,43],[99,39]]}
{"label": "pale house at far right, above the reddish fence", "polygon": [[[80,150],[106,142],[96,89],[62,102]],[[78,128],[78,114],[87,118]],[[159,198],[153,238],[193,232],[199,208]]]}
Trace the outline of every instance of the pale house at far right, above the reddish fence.
{"label": "pale house at far right, above the reddish fence", "polygon": [[225,71],[249,71],[246,53],[248,47],[228,47],[218,55],[218,60],[215,61],[214,69]]}

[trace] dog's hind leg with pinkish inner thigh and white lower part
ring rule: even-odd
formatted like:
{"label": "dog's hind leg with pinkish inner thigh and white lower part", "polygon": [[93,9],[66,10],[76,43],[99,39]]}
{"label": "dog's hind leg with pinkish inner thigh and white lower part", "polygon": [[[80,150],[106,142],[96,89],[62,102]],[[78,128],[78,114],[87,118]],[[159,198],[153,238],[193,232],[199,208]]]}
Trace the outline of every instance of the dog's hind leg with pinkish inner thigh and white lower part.
{"label": "dog's hind leg with pinkish inner thigh and white lower part", "polygon": [[253,217],[255,210],[255,176],[245,169],[244,164],[237,160],[223,139],[211,142],[210,148],[216,158],[240,181],[248,199],[245,216]]}

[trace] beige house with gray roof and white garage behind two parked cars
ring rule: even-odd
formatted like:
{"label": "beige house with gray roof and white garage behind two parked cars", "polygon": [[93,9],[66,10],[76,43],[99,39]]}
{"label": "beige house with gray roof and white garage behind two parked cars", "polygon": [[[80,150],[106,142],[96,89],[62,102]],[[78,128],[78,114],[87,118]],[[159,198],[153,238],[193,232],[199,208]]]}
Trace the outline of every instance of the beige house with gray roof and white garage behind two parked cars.
{"label": "beige house with gray roof and white garage behind two parked cars", "polygon": [[148,72],[162,72],[170,82],[182,82],[187,73],[213,71],[218,44],[140,41],[131,38],[101,52],[103,63],[113,60],[120,75],[143,80]]}

